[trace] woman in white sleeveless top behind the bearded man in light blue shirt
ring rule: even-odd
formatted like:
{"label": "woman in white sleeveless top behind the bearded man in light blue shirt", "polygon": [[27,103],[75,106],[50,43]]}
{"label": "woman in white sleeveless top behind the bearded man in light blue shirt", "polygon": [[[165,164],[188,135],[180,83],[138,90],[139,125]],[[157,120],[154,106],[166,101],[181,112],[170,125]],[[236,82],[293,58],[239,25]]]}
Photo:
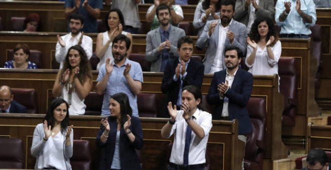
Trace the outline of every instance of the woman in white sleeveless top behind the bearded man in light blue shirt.
{"label": "woman in white sleeveless top behind the bearded man in light blue shirt", "polygon": [[111,53],[111,45],[114,37],[119,34],[126,35],[130,38],[131,45],[127,50],[126,57],[129,57],[132,49],[132,34],[130,32],[123,31],[123,26],[125,25],[124,17],[122,12],[115,8],[108,11],[108,14],[105,18],[105,24],[107,27],[107,31],[98,33],[96,50],[95,53],[100,61],[97,65],[97,70],[99,70],[100,66],[105,63],[107,58],[110,60],[113,59],[113,54]]}

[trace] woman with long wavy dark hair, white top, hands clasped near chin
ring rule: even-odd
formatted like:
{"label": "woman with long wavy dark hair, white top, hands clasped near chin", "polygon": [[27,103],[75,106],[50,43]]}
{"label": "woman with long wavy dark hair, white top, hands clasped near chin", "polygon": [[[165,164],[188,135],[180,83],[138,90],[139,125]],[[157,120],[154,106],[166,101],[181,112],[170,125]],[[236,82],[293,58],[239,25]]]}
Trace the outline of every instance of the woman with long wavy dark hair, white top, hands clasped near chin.
{"label": "woman with long wavy dark hair, white top, hands clasped near chin", "polygon": [[70,114],[84,114],[85,97],[92,88],[91,66],[85,50],[80,45],[71,46],[56,75],[52,94],[66,100]]}

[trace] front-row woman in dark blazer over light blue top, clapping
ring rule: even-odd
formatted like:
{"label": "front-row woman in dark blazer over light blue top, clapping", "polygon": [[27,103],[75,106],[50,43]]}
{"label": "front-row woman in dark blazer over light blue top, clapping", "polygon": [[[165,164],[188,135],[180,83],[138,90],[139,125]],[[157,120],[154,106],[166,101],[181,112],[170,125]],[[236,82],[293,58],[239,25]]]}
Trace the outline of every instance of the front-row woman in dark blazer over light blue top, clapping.
{"label": "front-row woman in dark blazer over light blue top, clapping", "polygon": [[99,169],[141,169],[136,149],[141,149],[140,119],[132,115],[129,99],[123,92],[109,100],[110,116],[100,121],[97,144],[104,148]]}

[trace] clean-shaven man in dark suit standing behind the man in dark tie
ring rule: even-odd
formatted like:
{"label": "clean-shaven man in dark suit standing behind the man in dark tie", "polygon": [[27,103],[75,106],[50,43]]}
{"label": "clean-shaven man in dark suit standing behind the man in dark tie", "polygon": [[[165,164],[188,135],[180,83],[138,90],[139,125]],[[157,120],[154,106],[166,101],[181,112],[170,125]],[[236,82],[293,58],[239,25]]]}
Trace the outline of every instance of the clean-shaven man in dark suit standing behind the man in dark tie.
{"label": "clean-shaven man in dark suit standing behind the man in dark tie", "polygon": [[[180,109],[182,105],[182,88],[186,85],[196,85],[199,88],[204,78],[204,65],[191,59],[193,54],[194,41],[189,36],[183,36],[178,40],[177,51],[179,58],[170,60],[165,66],[161,91],[168,93],[168,102],[171,101]],[[163,110],[167,108],[165,105]],[[163,113],[164,117],[169,117],[168,111]]]}

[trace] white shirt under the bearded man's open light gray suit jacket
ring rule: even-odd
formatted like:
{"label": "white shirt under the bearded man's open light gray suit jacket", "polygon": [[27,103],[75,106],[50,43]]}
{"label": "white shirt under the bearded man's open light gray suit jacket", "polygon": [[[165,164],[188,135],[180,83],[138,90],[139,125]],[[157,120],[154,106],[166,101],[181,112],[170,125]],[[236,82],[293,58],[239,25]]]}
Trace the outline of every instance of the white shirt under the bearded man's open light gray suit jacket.
{"label": "white shirt under the bearded man's open light gray suit jacket", "polygon": [[230,25],[232,23],[232,19],[230,21],[230,23],[223,27],[223,25],[221,24],[221,19],[220,22],[218,24],[220,24],[220,28],[219,28],[219,33],[218,33],[218,45],[217,45],[217,50],[216,50],[216,55],[212,64],[212,67],[210,68],[209,73],[214,73],[216,71],[220,71],[223,68],[223,61],[224,61],[224,44],[225,44],[225,39],[226,37],[226,32],[229,30]]}

